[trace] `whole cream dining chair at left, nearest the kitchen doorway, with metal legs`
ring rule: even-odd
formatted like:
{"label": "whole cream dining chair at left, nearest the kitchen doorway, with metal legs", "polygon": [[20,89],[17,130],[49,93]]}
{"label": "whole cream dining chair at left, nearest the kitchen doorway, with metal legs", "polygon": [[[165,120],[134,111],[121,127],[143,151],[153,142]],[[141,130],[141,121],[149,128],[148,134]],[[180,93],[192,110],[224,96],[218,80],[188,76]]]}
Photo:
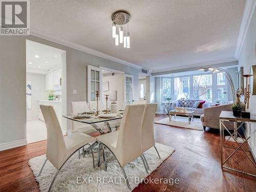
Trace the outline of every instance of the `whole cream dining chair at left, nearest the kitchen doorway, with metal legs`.
{"label": "whole cream dining chair at left, nearest the kitchen doorway, with metal legs", "polygon": [[[96,139],[83,133],[74,133],[63,137],[53,106],[40,105],[40,109],[42,111],[42,115],[44,116],[47,128],[47,151],[46,160],[40,169],[38,177],[40,176],[47,160],[49,160],[57,168],[57,173],[55,174],[49,188],[49,191],[51,191],[53,183],[62,166],[81,147],[90,145],[90,143]],[[90,148],[92,152],[93,167],[95,167],[91,145]]]}

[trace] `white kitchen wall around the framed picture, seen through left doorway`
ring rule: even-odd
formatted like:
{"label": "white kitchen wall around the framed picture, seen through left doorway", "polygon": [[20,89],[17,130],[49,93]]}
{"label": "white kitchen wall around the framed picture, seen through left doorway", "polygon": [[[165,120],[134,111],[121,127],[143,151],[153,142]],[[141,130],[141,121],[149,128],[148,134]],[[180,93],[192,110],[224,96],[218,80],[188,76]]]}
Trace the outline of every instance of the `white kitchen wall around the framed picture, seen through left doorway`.
{"label": "white kitchen wall around the framed picture, seen through left doorway", "polygon": [[49,94],[45,87],[45,75],[27,73],[27,81],[31,81],[32,92],[32,108],[27,109],[27,120],[38,119],[37,116],[37,101],[48,100]]}

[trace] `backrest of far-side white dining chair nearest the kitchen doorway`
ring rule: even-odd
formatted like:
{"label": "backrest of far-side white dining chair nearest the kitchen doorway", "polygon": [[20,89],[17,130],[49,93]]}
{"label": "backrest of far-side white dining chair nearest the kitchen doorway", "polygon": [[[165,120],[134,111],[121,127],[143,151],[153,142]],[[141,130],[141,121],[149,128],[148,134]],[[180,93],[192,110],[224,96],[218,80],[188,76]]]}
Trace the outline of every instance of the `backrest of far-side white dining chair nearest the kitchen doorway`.
{"label": "backrest of far-side white dining chair nearest the kitchen doorway", "polygon": [[[82,112],[88,112],[90,111],[89,106],[86,101],[74,101],[71,102],[72,114],[82,113]],[[81,128],[84,126],[84,123],[72,121],[73,130]]]}

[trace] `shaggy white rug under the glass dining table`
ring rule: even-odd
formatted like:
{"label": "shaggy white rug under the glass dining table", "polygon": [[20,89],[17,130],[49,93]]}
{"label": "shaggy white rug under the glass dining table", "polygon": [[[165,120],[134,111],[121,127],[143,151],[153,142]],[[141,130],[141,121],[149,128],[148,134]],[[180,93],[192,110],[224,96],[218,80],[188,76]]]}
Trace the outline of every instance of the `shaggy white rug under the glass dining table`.
{"label": "shaggy white rug under the glass dining table", "polygon": [[[150,173],[175,151],[173,147],[160,143],[156,143],[156,147],[161,156],[161,160],[158,158],[154,147],[144,153],[151,169]],[[105,149],[105,157],[107,166],[106,172],[104,171],[102,153],[100,167],[97,166],[97,153],[94,153],[95,169],[93,168],[91,154],[86,155],[85,158],[81,157],[81,159],[78,159],[78,153],[74,154],[59,172],[52,191],[129,191],[123,178],[122,170],[108,149]],[[57,169],[47,161],[41,175],[37,177],[45,159],[46,156],[42,155],[29,160],[30,168],[39,183],[40,191],[48,191],[50,183],[57,171]],[[147,177],[141,158],[137,158],[133,162],[126,164],[124,170],[129,178],[131,189],[138,186],[138,179],[143,181],[143,179]],[[89,179],[92,180],[90,183]],[[108,181],[110,181],[110,183],[108,183]]]}

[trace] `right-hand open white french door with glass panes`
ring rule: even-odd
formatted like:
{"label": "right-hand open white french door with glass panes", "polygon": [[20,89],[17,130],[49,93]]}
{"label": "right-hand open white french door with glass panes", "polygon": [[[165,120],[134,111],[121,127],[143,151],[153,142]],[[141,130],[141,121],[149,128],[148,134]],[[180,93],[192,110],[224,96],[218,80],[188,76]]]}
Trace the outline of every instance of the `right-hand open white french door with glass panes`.
{"label": "right-hand open white french door with glass panes", "polygon": [[133,75],[124,74],[124,104],[133,104],[134,94]]}

